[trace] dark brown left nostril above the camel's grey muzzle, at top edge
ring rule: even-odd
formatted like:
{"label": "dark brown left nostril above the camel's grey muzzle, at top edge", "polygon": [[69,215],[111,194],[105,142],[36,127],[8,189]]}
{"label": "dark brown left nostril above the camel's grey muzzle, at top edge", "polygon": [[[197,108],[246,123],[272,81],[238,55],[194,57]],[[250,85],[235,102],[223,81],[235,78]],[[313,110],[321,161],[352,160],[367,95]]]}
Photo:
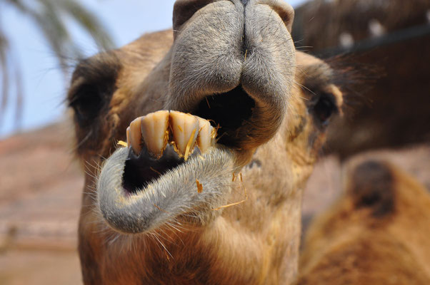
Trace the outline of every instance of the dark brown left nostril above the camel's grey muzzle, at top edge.
{"label": "dark brown left nostril above the camel's grey muzzle, at top edge", "polygon": [[175,34],[196,11],[209,3],[211,3],[211,0],[177,0],[173,8],[173,29]]}

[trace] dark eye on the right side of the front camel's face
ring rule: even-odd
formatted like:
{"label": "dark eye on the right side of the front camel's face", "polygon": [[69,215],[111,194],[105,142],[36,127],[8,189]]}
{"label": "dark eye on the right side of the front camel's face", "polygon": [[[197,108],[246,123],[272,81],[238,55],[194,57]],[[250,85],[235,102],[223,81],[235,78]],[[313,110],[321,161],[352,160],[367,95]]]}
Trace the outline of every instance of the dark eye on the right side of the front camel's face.
{"label": "dark eye on the right side of the front camel's face", "polygon": [[316,123],[325,127],[328,125],[331,115],[338,113],[339,110],[333,94],[317,93],[311,100],[309,111],[314,115]]}

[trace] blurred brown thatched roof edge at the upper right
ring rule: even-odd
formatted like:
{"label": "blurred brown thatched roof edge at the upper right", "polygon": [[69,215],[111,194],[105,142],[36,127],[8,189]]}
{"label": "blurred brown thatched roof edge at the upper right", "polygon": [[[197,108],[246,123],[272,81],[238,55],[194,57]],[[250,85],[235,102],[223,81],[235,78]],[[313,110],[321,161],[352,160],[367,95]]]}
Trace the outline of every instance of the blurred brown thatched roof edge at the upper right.
{"label": "blurred brown thatched roof edge at the upper right", "polygon": [[386,33],[427,24],[429,9],[426,0],[314,0],[296,9],[293,35],[299,46],[321,51],[339,46],[341,33],[350,33],[355,43],[371,38],[372,20]]}

